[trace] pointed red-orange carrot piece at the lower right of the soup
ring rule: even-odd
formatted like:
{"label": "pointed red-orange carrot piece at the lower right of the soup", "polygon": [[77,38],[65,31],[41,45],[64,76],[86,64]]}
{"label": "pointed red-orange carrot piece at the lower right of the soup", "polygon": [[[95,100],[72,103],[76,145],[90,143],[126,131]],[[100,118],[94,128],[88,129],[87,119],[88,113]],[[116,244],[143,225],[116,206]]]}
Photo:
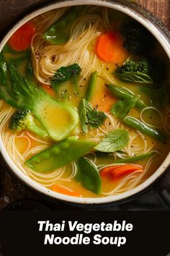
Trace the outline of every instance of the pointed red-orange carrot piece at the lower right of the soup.
{"label": "pointed red-orange carrot piece at the lower right of the soup", "polygon": [[143,167],[133,164],[108,166],[100,171],[100,176],[115,180],[120,179],[122,176],[132,174],[134,171],[138,170],[142,171]]}

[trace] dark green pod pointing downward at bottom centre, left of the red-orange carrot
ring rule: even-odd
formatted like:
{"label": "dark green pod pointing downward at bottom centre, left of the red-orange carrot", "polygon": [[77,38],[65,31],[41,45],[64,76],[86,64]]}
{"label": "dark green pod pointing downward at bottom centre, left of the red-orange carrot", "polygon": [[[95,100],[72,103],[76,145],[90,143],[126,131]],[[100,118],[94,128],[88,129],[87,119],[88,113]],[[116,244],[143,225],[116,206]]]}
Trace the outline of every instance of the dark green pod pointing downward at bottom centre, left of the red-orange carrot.
{"label": "dark green pod pointing downward at bottom centre, left of the red-orange carrot", "polygon": [[78,167],[78,173],[76,174],[75,179],[86,189],[89,189],[95,194],[99,194],[101,192],[102,182],[97,166],[95,166],[89,158],[81,157],[78,160]]}

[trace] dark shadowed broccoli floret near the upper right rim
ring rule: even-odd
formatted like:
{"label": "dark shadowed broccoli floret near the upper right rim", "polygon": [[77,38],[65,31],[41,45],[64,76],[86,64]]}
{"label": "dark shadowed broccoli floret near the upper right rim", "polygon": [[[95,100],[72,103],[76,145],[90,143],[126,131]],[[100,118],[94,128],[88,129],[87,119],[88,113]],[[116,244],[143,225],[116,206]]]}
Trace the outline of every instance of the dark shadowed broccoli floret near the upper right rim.
{"label": "dark shadowed broccoli floret near the upper right rim", "polygon": [[155,38],[151,33],[135,21],[130,21],[122,26],[123,46],[130,54],[143,55],[148,54],[155,46]]}

